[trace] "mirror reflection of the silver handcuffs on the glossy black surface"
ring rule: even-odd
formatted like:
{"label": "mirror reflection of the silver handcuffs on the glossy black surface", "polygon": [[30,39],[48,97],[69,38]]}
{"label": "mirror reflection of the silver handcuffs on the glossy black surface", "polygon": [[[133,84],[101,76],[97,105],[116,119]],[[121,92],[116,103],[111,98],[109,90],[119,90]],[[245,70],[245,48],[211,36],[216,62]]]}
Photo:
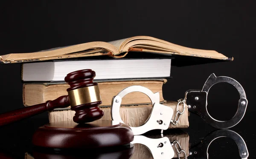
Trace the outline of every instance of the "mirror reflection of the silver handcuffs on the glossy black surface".
{"label": "mirror reflection of the silver handcuffs on the glossy black surface", "polygon": [[232,130],[215,130],[212,133],[209,133],[209,135],[207,135],[207,137],[205,137],[199,145],[192,147],[189,150],[189,154],[186,154],[186,152],[182,150],[179,142],[175,140],[171,143],[168,137],[151,139],[143,135],[138,135],[134,136],[134,141],[131,143],[145,145],[148,150],[150,150],[153,159],[172,159],[175,155],[172,146],[175,146],[175,150],[177,151],[176,153],[179,159],[182,153],[184,153],[183,156],[185,159],[208,159],[209,145],[215,139],[220,137],[228,137],[233,139],[239,148],[239,156],[241,159],[247,159],[249,153],[244,140],[238,133]]}

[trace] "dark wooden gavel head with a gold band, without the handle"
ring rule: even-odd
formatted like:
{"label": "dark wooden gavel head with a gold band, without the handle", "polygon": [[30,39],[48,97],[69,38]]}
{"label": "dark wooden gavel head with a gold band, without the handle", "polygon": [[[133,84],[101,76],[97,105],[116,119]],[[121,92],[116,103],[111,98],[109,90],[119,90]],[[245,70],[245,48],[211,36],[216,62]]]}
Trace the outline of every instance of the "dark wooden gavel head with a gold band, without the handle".
{"label": "dark wooden gavel head with a gold band, without the handle", "polygon": [[102,99],[98,83],[93,82],[96,76],[91,69],[83,69],[67,74],[65,82],[70,85],[67,89],[71,110],[76,111],[73,121],[87,123],[101,119],[104,112],[99,109]]}

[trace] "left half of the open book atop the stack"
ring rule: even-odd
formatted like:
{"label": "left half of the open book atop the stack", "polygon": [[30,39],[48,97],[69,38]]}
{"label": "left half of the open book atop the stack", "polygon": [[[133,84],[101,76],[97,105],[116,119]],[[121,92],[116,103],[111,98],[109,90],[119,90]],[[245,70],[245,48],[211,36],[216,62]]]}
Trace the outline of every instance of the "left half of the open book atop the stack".
{"label": "left half of the open book atop the stack", "polygon": [[118,49],[110,43],[95,41],[41,52],[2,55],[0,56],[0,61],[3,63],[43,61],[96,55],[111,55],[118,54],[118,52]]}

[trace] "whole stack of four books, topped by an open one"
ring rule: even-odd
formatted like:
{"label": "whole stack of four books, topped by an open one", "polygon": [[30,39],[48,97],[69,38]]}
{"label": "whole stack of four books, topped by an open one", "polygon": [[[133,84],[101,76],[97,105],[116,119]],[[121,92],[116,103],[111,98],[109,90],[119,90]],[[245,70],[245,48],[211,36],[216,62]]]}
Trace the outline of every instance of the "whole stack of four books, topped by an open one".
{"label": "whole stack of four books, topped by an open one", "polygon": [[[113,96],[133,85],[159,92],[160,103],[172,107],[175,112],[177,102],[166,101],[162,87],[167,78],[171,78],[171,66],[179,65],[180,59],[192,64],[188,60],[190,58],[197,64],[233,60],[216,51],[192,49],[153,37],[137,36],[108,43],[96,41],[41,52],[3,55],[0,61],[5,64],[22,63],[23,104],[26,107],[67,95],[69,85],[64,82],[64,77],[68,73],[80,69],[94,70],[94,81],[99,83],[102,96],[100,107],[105,111],[102,119],[111,120]],[[147,95],[129,93],[122,99],[120,116],[126,124],[136,127],[148,119],[151,108]],[[49,112],[49,122],[73,120],[74,113],[69,107],[55,109]],[[188,127],[188,115],[186,109],[179,123],[170,124],[170,128]]]}

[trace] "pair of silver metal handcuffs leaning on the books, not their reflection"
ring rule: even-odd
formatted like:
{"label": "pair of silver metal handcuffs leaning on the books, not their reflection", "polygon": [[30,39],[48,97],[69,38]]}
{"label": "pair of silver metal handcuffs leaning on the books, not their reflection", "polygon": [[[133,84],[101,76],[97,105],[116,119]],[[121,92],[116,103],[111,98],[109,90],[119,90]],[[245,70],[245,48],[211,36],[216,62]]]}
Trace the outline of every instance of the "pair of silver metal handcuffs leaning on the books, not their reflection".
{"label": "pair of silver metal handcuffs leaning on the books, not their reflection", "polygon": [[[224,82],[233,85],[239,92],[240,99],[238,104],[238,110],[236,115],[228,120],[228,121],[219,121],[212,118],[207,111],[207,94],[209,89],[217,83]],[[185,98],[180,100],[177,104],[175,119],[171,119],[174,111],[172,108],[167,107],[163,104],[160,104],[160,96],[159,93],[153,93],[148,88],[142,86],[131,86],[127,87],[121,92],[119,92],[116,96],[113,97],[112,105],[111,105],[111,117],[112,120],[116,120],[122,122],[122,119],[119,114],[119,108],[122,102],[122,98],[131,92],[141,92],[146,94],[153,105],[151,110],[151,114],[145,123],[139,127],[131,127],[134,135],[140,135],[148,132],[149,130],[160,129],[163,133],[163,130],[167,130],[169,124],[177,124],[180,119],[180,115],[184,113],[186,105],[188,106],[188,110],[190,112],[197,113],[201,118],[203,118],[209,125],[212,127],[216,127],[218,129],[227,129],[235,126],[241,121],[244,117],[244,113],[247,107],[247,99],[244,92],[243,87],[233,78],[219,76],[216,77],[213,73],[209,76],[207,81],[204,84],[202,90],[188,90],[185,93]],[[178,110],[179,104],[183,104],[183,110]]]}

